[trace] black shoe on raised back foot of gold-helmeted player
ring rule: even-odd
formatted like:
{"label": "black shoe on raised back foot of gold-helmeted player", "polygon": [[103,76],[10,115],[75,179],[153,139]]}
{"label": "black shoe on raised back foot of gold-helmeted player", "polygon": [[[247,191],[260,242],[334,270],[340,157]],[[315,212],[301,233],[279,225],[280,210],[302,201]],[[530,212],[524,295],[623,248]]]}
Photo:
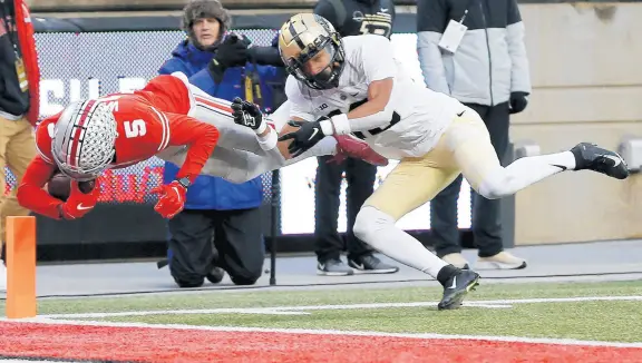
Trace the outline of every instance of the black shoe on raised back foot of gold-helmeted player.
{"label": "black shoe on raised back foot of gold-helmeted player", "polygon": [[629,177],[629,166],[617,153],[588,143],[577,144],[571,153],[575,156],[575,170],[593,170],[616,179]]}

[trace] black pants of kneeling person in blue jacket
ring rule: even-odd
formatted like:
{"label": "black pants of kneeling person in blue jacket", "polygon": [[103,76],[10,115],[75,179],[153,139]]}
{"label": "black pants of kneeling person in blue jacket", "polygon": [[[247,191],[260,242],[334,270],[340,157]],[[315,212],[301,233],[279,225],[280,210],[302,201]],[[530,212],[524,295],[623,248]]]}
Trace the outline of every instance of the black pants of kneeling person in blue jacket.
{"label": "black pants of kneeling person in blue jacket", "polygon": [[169,271],[179,285],[201,285],[214,266],[225,269],[236,285],[252,285],[261,277],[261,208],[185,209],[168,226]]}

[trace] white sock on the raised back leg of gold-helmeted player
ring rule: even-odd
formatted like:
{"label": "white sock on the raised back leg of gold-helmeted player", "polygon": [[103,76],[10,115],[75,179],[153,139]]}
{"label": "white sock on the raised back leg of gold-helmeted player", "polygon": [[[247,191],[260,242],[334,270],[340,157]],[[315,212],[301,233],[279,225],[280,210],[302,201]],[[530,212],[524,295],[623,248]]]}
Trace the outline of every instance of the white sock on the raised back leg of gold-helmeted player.
{"label": "white sock on the raised back leg of gold-helmeted player", "polygon": [[552,175],[573,170],[575,156],[571,151],[528,156],[489,173],[479,186],[479,194],[489,199],[513,195]]}

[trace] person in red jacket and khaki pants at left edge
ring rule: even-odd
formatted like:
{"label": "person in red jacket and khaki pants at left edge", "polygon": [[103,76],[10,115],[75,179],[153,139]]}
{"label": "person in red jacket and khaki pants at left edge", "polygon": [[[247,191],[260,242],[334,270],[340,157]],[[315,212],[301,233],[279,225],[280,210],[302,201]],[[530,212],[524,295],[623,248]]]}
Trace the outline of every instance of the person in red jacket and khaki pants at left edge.
{"label": "person in red jacket and khaki pants at left edge", "polygon": [[[36,157],[33,127],[38,121],[40,70],[33,40],[33,26],[23,0],[0,0],[0,253],[9,216],[29,210],[16,198],[16,188],[6,196],[6,167],[20,184],[27,166]],[[7,271],[0,263],[0,291],[7,288]]]}

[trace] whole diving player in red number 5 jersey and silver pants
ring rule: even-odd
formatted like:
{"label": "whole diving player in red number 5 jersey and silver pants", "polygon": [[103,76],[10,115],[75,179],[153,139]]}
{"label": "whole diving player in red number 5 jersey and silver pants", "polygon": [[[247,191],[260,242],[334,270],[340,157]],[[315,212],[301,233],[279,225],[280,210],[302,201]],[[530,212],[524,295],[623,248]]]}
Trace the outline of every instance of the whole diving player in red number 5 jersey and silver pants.
{"label": "whole diving player in red number 5 jersey and silver pants", "polygon": [[[75,102],[38,126],[39,156],[18,187],[18,202],[55,219],[79,218],[94,208],[100,190],[95,183],[85,194],[78,183],[94,180],[105,169],[125,168],[156,156],[182,165],[177,180],[152,190],[160,195],[155,209],[172,218],[183,209],[186,188],[198,174],[243,183],[319,155],[387,163],[364,143],[349,137],[329,137],[285,160],[276,147],[274,129],[288,121],[288,105],[273,114],[268,130],[252,131],[246,125],[236,125],[232,112],[231,102],[206,95],[179,72],[158,76],[133,94]],[[217,151],[212,154],[215,146]],[[42,189],[57,170],[72,179],[66,202]]]}

